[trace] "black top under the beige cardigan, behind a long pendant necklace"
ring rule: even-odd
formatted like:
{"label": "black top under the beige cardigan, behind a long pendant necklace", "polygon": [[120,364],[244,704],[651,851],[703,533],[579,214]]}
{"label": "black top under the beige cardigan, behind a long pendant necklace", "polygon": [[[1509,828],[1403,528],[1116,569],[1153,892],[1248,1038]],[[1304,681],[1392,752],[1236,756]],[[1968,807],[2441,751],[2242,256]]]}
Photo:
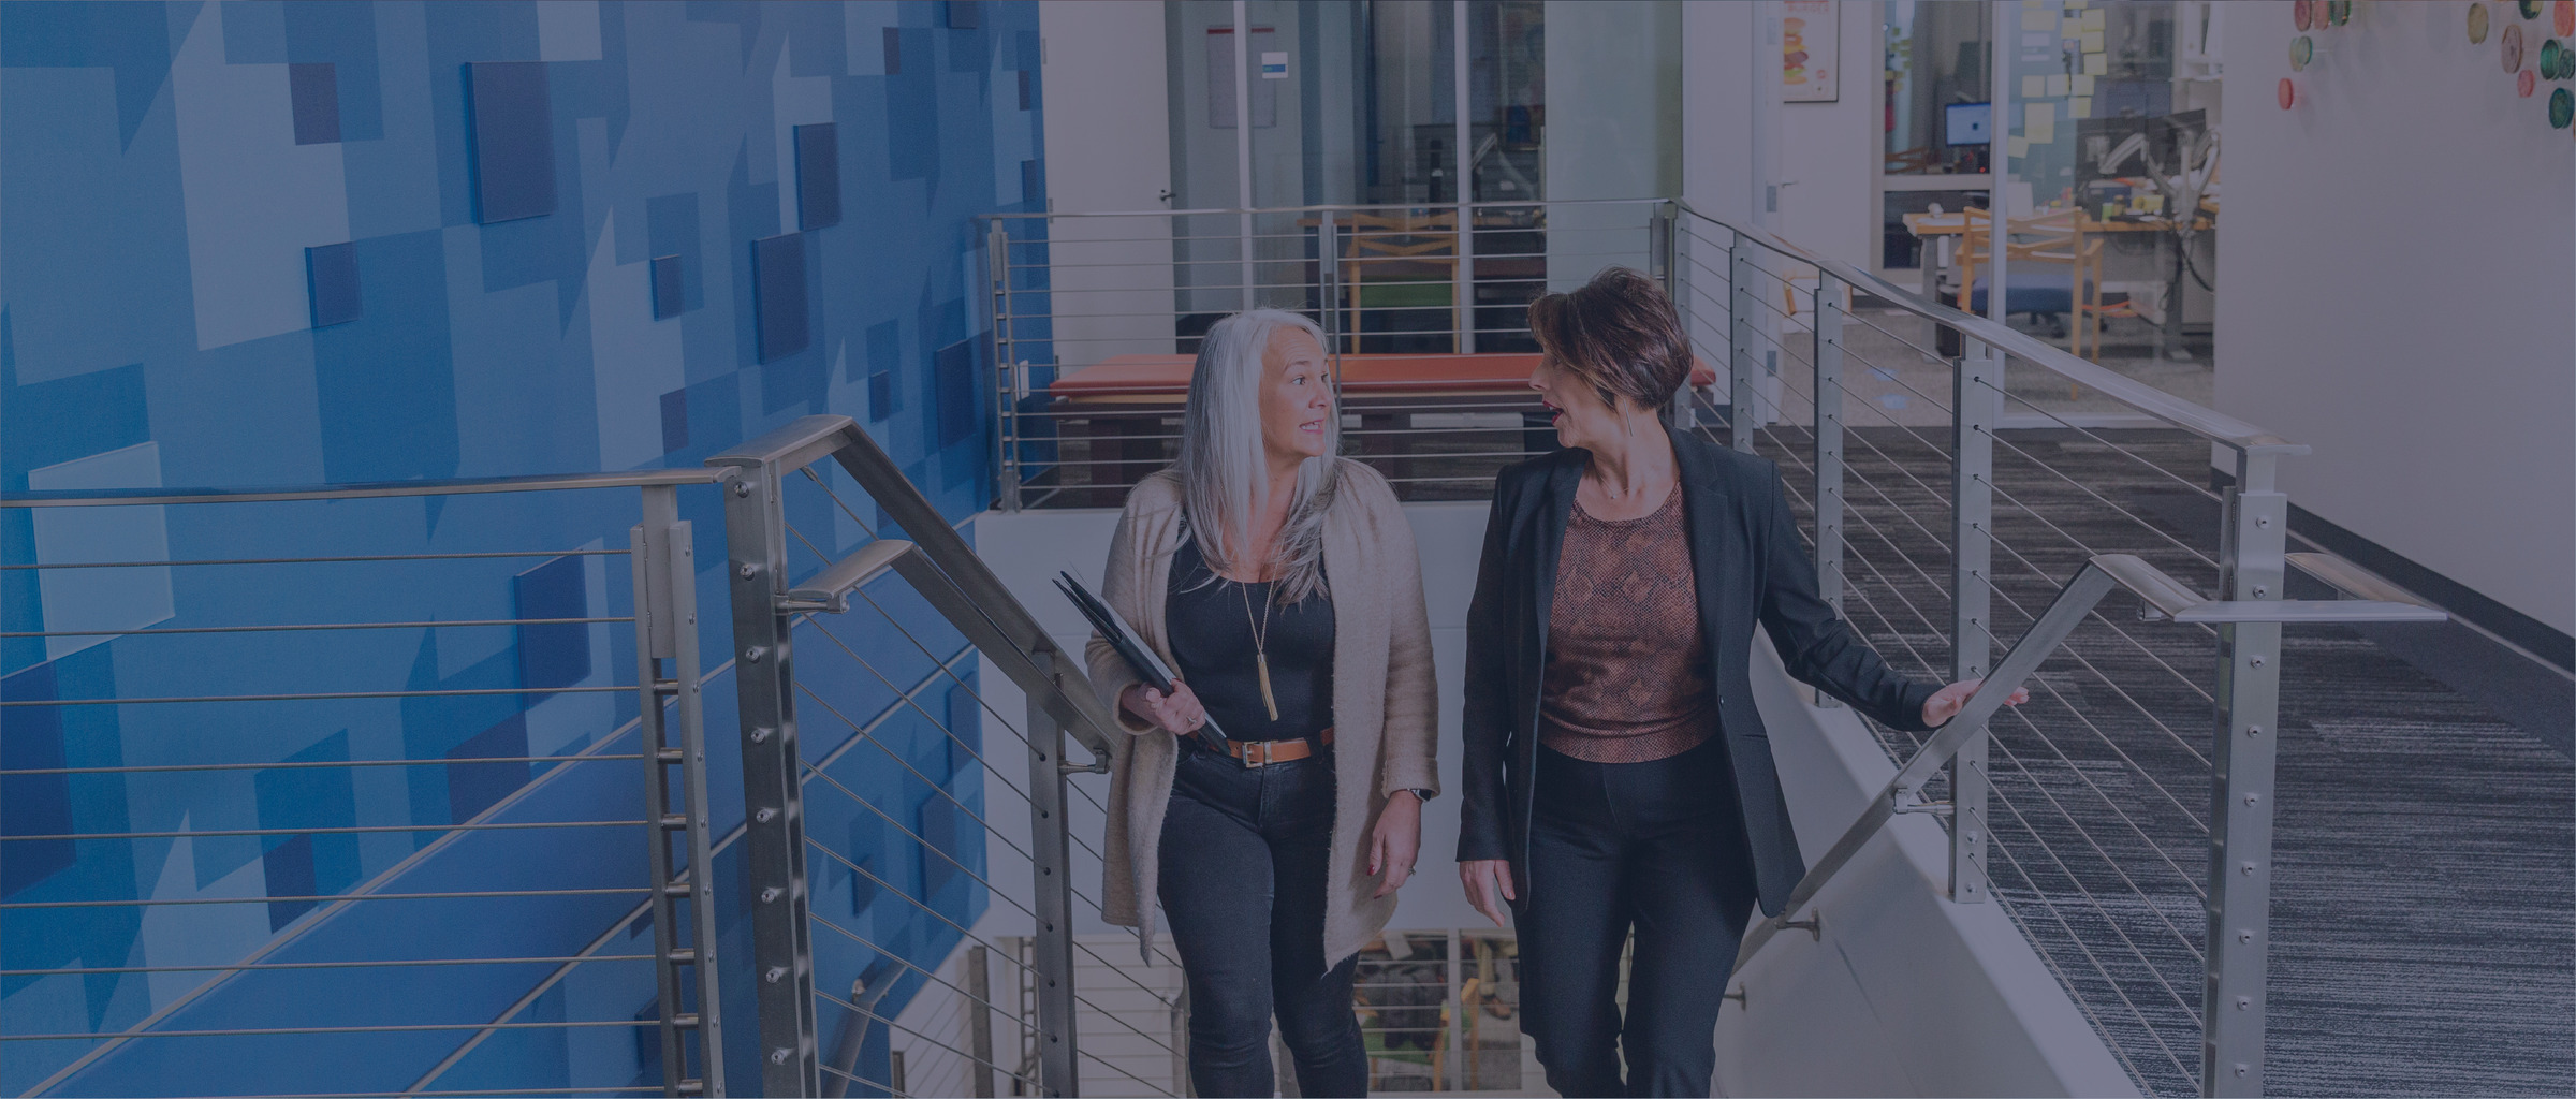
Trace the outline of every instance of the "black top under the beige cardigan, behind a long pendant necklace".
{"label": "black top under the beige cardigan, behind a long pendant necklace", "polygon": [[1270,697],[1278,700],[1280,718],[1270,721],[1270,710],[1262,708],[1252,628],[1270,592],[1267,582],[1239,584],[1216,577],[1193,535],[1182,535],[1172,553],[1172,582],[1164,592],[1172,661],[1231,741],[1296,741],[1332,728],[1332,600],[1324,592],[1285,607],[1270,605],[1265,651]]}

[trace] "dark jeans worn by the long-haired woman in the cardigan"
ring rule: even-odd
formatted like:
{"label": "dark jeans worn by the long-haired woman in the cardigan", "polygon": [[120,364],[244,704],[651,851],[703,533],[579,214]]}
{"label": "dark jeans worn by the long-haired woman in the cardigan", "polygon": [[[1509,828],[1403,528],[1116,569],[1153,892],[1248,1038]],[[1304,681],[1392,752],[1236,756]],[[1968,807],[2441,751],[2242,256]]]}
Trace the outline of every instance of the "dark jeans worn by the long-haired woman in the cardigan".
{"label": "dark jeans worn by the long-haired woman in the cardigan", "polygon": [[1190,981],[1190,1084],[1270,1096],[1270,1014],[1298,1094],[1368,1094],[1345,957],[1324,968],[1332,754],[1244,767],[1182,749],[1162,818],[1162,914]]}

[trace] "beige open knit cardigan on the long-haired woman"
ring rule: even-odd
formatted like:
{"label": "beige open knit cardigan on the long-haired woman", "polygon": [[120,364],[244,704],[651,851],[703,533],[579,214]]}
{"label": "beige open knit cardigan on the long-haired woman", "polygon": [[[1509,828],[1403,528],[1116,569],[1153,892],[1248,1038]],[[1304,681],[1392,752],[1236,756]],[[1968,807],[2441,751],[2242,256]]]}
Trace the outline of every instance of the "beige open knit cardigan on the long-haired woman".
{"label": "beige open knit cardigan on the long-haired woman", "polygon": [[[1128,492],[1100,600],[1172,664],[1164,592],[1180,548],[1180,479],[1149,476]],[[1373,468],[1340,461],[1340,486],[1324,512],[1324,579],[1332,595],[1334,795],[1332,883],[1324,898],[1324,963],[1340,965],[1376,937],[1396,898],[1373,898],[1368,836],[1394,790],[1440,790],[1440,695],[1432,685],[1432,631],[1422,610],[1422,559],[1394,489]],[[1097,636],[1087,646],[1092,685],[1126,736],[1110,759],[1110,811],[1103,916],[1154,934],[1162,811],[1172,800],[1180,741],[1118,710],[1136,682]],[[1177,667],[1177,664],[1175,664]]]}

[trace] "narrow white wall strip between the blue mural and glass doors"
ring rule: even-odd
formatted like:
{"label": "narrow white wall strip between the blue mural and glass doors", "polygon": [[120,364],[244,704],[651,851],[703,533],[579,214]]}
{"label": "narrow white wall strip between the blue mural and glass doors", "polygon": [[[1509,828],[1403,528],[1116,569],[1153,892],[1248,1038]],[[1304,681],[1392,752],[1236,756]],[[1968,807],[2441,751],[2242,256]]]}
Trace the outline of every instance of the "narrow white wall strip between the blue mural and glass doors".
{"label": "narrow white wall strip between the blue mural and glass doors", "polygon": [[[1051,208],[1164,208],[1172,134],[1162,0],[1046,3],[1038,33]],[[1172,353],[1170,219],[1059,219],[1051,239],[1059,363]]]}

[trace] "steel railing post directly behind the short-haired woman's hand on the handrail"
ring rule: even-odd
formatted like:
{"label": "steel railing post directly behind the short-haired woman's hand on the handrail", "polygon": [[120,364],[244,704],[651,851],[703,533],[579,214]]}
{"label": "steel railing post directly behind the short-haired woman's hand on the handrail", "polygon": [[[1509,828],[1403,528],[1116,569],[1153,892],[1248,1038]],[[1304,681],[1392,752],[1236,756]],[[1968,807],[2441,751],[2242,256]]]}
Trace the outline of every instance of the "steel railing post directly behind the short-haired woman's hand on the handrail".
{"label": "steel railing post directly behind the short-haired woman's hand on the handrail", "polygon": [[[1994,422],[2004,412],[2004,355],[1976,345],[1950,373],[1950,679],[1994,667]],[[1986,731],[1950,764],[1950,901],[1986,898]]]}

